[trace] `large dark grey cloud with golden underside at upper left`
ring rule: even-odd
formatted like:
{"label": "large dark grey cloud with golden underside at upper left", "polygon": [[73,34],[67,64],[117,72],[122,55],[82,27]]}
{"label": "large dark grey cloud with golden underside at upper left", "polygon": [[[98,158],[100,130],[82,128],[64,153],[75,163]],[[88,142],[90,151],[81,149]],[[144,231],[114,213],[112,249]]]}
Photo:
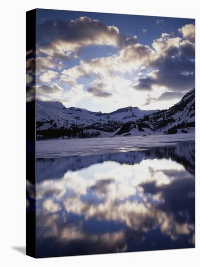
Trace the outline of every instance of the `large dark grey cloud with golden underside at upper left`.
{"label": "large dark grey cloud with golden underside at upper left", "polygon": [[124,47],[136,43],[137,37],[124,36],[117,27],[97,19],[79,17],[71,21],[45,20],[37,25],[37,40],[37,51],[49,56],[71,58],[77,57],[85,46]]}

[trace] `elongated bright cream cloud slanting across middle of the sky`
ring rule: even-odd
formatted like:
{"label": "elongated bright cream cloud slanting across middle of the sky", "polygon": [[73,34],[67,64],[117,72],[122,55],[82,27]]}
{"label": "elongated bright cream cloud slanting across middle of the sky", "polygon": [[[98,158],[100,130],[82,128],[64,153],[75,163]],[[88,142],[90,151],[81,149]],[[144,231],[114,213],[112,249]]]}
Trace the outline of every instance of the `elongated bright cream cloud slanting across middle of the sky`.
{"label": "elongated bright cream cloud slanting across middle of the sky", "polygon": [[[119,53],[108,57],[95,58],[89,61],[80,61],[79,66],[75,66],[62,71],[65,79],[77,80],[81,76],[89,76],[90,73],[109,77],[119,73],[131,73],[133,70],[146,65],[154,59],[155,53],[149,46],[133,44],[124,47]],[[70,77],[70,78],[69,78]],[[64,80],[64,76],[61,76]]]}

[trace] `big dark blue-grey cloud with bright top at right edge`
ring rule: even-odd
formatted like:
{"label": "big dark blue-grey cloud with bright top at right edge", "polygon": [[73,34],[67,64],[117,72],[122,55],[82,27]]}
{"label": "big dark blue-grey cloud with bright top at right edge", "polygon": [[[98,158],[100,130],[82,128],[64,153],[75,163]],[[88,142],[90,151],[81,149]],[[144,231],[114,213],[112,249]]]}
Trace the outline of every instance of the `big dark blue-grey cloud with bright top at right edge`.
{"label": "big dark blue-grey cloud with bright top at right edge", "polygon": [[195,83],[195,44],[168,33],[153,41],[156,52],[149,67],[156,71],[138,78],[135,89],[151,90],[153,85],[165,86],[170,91],[186,91]]}

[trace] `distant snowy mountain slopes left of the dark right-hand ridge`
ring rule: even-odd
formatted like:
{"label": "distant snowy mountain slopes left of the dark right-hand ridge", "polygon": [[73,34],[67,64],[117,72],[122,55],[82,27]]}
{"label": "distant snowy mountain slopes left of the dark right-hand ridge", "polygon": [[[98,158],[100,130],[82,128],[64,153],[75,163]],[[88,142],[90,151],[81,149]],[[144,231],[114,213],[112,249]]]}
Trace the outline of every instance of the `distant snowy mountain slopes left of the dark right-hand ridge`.
{"label": "distant snowy mountain slopes left of the dark right-hand ridge", "polygon": [[[51,125],[48,123],[48,121],[51,120],[58,124],[57,128],[66,127],[66,125],[69,126],[70,124],[87,127],[101,127],[102,125],[113,121],[116,121],[119,126],[119,123],[136,120],[143,117],[145,114],[155,112],[154,110],[140,110],[138,107],[126,107],[111,113],[101,113],[76,107],[65,108],[61,102],[45,102],[37,100],[36,103],[37,122],[44,123],[42,126],[38,124],[38,129],[40,130],[51,128]],[[103,128],[105,128],[105,125]]]}

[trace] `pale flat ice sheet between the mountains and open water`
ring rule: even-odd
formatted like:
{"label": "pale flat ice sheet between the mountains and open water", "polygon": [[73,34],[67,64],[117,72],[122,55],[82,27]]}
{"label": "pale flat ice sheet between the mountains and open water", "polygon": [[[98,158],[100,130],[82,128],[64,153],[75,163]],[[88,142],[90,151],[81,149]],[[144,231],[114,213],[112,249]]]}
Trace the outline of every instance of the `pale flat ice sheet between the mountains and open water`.
{"label": "pale flat ice sheet between the mountains and open water", "polygon": [[87,139],[37,141],[37,158],[98,155],[141,150],[148,147],[175,146],[178,142],[194,141],[195,133]]}

